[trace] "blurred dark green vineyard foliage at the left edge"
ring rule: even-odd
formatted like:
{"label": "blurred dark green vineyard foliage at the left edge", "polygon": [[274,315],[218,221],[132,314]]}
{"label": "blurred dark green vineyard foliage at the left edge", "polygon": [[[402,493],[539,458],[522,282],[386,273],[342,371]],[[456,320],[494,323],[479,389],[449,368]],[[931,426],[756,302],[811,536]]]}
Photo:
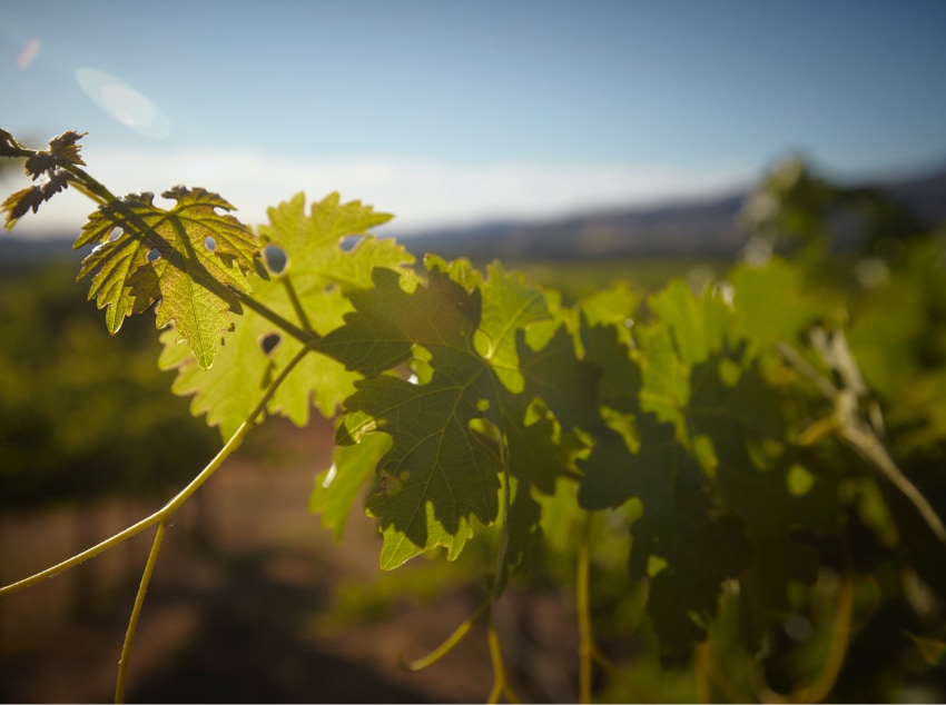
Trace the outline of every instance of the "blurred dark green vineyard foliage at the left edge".
{"label": "blurred dark green vineyard foliage at the left edge", "polygon": [[150,497],[213,457],[157,369],[146,317],[112,338],[72,262],[0,262],[0,506],[27,509],[106,495]]}

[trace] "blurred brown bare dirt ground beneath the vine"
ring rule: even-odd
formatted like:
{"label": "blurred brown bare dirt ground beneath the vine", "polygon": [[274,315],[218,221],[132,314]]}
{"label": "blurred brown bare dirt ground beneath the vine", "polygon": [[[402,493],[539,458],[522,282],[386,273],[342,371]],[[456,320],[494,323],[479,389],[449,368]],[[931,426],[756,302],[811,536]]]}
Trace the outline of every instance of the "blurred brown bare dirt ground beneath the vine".
{"label": "blurred brown bare dirt ground beneath the vine", "polygon": [[[405,594],[368,599],[361,614],[351,607],[339,612],[348,604],[339,602],[345,590],[369,596],[388,576],[428,568],[421,559],[416,567],[382,574],[378,536],[357,507],[341,545],[307,513],[313,478],[328,464],[327,425],[279,427],[273,438],[280,446],[278,461],[238,454],[168,529],[131,655],[127,699],[484,701],[493,672],[483,628],[424,672],[407,673],[395,659],[397,653],[425,655],[469,617],[482,598],[475,580],[445,582],[425,599]],[[62,560],[159,505],[114,500],[2,516],[0,583]],[[112,699],[152,537],[149,529],[0,598],[0,699]],[[568,596],[550,590],[510,590],[496,606],[506,668],[522,698],[575,698],[570,609]]]}

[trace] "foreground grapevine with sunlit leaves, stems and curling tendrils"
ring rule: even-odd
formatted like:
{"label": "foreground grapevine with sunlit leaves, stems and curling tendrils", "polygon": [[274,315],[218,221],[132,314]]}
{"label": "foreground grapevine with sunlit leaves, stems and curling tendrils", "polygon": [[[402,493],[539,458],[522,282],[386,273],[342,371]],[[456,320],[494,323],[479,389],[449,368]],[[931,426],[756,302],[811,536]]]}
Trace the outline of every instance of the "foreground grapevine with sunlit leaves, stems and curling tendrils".
{"label": "foreground grapevine with sunlit leaves, stems and curling tendrils", "polygon": [[[83,169],[82,137],[65,132],[36,150],[0,130],[0,156],[24,159],[33,180],[3,201],[7,227],[62,189],[88,196],[97,208],[75,247],[91,247],[78,274],[89,299],[112,334],[154,310],[158,365],[175,370],[173,391],[190,397],[194,416],[223,441],[161,509],[0,588],[27,588],[157,527],[117,701],[175,512],[254,427],[274,416],[305,426],[314,410],[336,428],[334,461],[309,498],[327,529],[341,533],[367,489],[383,569],[422,554],[453,560],[471,542],[490,547],[482,605],[442,648],[403,663],[433,666],[482,620],[495,678],[490,702],[516,698],[492,606],[550,553],[574,570],[581,702],[595,694],[595,668],[620,678],[591,614],[595,552],[609,540],[630,543],[627,576],[646,592],[660,661],[692,662],[702,699],[807,702],[831,693],[856,588],[871,572],[854,540],[946,587],[929,564],[946,556],[946,483],[942,471],[910,471],[946,437],[936,404],[946,398],[946,367],[928,364],[911,378],[885,370],[885,350],[871,347],[861,322],[869,309],[858,318],[858,301],[819,269],[827,266],[819,232],[800,234],[791,257],[737,264],[697,292],[673,280],[646,299],[615,286],[566,304],[500,262],[481,271],[433,254],[416,261],[372,235],[391,216],[337,193],[311,203],[298,193],[255,228],[204,188],[168,189],[167,209],[150,193],[117,197]],[[772,196],[804,178],[765,188]],[[790,232],[805,192],[775,193],[782,210],[756,232]],[[867,196],[849,200],[873,203]],[[357,244],[343,248],[352,237]],[[908,257],[942,247],[917,239]],[[905,278],[894,271],[889,286]],[[930,278],[925,296],[930,315],[946,310],[942,281]],[[927,342],[946,359],[942,336]],[[904,390],[910,404],[895,404]],[[620,539],[602,528],[604,516],[608,530],[620,524]],[[796,674],[790,693],[776,693],[763,644],[786,615],[822,597],[826,575],[837,576],[827,655]],[[746,643],[720,656],[737,623]],[[944,628],[930,625],[916,638],[942,655]]]}

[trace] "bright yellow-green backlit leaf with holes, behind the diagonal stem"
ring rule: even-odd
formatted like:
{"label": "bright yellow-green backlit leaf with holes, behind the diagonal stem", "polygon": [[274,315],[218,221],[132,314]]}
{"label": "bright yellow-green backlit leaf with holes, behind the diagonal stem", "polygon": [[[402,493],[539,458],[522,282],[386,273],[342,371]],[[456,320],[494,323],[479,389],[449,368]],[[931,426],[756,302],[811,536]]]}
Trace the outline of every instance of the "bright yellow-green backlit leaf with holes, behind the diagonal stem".
{"label": "bright yellow-green backlit leaf with holes, behind the diagonal stem", "polygon": [[[305,212],[305,196],[269,209],[270,225],[260,227],[264,242],[278,242],[286,258],[279,271],[254,281],[254,300],[282,318],[296,321],[304,332],[325,335],[343,324],[352,310],[347,294],[369,287],[375,267],[401,268],[413,257],[395,242],[361,237],[343,251],[341,239],[365,236],[372,224],[390,218],[358,201],[341,203],[333,193]],[[324,270],[325,274],[319,274]],[[391,270],[387,270],[391,271]],[[349,272],[339,278],[339,272]],[[397,277],[397,274],[392,272]],[[218,365],[201,368],[193,356],[175,346],[175,336],[162,336],[165,349],[159,365],[176,368],[174,391],[194,395],[191,411],[206,414],[210,426],[219,426],[229,438],[259,401],[264,389],[300,351],[304,342],[282,330],[270,318],[250,308],[223,334]],[[331,417],[342,400],[354,391],[357,373],[317,351],[307,355],[276,390],[267,413],[280,414],[305,426],[315,404]]]}

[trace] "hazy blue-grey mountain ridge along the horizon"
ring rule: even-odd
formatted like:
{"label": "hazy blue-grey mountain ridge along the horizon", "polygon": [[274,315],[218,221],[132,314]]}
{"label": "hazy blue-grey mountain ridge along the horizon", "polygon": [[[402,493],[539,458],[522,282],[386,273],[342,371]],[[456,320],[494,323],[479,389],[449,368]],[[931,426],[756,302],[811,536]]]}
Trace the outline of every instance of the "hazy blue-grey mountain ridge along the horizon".
{"label": "hazy blue-grey mountain ridge along the horizon", "polygon": [[[930,226],[946,221],[946,165],[916,177],[866,181],[907,205]],[[446,259],[569,259],[644,255],[736,252],[746,240],[737,218],[750,191],[711,199],[684,199],[660,206],[610,209],[543,221],[496,221],[466,228],[402,234],[414,255]],[[51,258],[80,259],[71,240],[28,239],[0,234],[0,265]]]}

